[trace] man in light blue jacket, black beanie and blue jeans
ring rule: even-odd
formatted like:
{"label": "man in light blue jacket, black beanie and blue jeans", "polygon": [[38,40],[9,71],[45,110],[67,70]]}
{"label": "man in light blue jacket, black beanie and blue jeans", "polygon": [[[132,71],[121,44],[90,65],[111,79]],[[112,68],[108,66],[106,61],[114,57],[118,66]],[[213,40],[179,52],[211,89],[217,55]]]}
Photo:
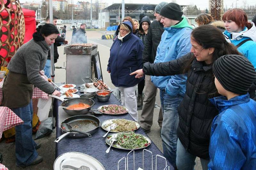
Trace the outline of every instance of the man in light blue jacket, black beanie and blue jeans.
{"label": "man in light blue jacket, black beanie and blue jeans", "polygon": [[[164,33],[157,47],[154,63],[175,60],[190,51],[190,34],[192,27],[188,25],[181,7],[175,3],[166,4],[160,11]],[[160,89],[160,100],[163,111],[161,137],[164,156],[172,166],[176,167],[177,127],[179,115],[177,107],[184,97],[186,75],[152,76],[151,81]]]}

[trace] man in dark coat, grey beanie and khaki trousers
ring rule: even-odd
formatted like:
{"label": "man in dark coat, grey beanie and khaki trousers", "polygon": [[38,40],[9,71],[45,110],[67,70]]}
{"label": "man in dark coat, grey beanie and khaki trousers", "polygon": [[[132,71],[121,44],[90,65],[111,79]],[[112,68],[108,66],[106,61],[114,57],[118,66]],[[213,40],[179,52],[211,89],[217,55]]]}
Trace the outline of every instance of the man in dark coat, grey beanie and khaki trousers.
{"label": "man in dark coat, grey beanie and khaki trousers", "polygon": [[[142,55],[143,63],[154,63],[156,57],[156,49],[158,44],[161,41],[162,33],[164,32],[164,26],[161,21],[160,10],[164,5],[168,3],[161,2],[156,5],[155,14],[156,20],[153,21],[149,28],[148,34],[146,37],[146,42],[144,44],[144,50]],[[140,126],[142,129],[148,133],[150,132],[150,128],[153,124],[153,113],[156,101],[156,86],[151,82],[150,76],[145,76],[145,98],[143,100],[143,108],[140,117]],[[162,127],[163,115],[162,109],[160,108],[159,116],[158,116],[158,125]]]}

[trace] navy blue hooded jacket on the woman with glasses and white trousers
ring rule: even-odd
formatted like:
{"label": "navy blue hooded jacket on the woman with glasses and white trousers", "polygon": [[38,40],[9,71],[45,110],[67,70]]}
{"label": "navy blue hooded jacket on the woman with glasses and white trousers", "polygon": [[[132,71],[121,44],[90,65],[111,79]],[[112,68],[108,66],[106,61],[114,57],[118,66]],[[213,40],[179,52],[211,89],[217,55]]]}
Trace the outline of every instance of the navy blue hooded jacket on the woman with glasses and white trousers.
{"label": "navy blue hooded jacket on the woman with glasses and white trousers", "polygon": [[[123,22],[132,30],[130,21]],[[118,35],[120,25],[116,30]],[[123,38],[123,42],[118,38],[113,42],[110,48],[110,57],[108,60],[108,68],[113,85],[116,87],[132,87],[140,82],[140,78],[135,78],[135,75],[130,76],[130,73],[142,68],[142,41],[130,31]]]}

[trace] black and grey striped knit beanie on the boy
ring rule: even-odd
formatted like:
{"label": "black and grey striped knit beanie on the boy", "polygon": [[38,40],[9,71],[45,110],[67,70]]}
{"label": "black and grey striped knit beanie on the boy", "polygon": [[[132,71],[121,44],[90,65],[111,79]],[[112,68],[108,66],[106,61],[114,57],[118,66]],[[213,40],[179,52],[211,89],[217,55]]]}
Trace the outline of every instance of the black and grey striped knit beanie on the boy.
{"label": "black and grey striped knit beanie on the boy", "polygon": [[252,63],[241,55],[223,55],[212,65],[214,76],[229,92],[246,94],[256,79]]}

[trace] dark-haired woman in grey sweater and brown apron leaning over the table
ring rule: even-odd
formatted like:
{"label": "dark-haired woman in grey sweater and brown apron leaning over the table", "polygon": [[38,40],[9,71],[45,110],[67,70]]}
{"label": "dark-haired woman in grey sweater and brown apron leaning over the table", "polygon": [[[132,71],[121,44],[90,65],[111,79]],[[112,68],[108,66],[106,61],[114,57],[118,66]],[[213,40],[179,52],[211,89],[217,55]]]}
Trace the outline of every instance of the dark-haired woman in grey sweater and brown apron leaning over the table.
{"label": "dark-haired woman in grey sweater and brown apron leaning over the table", "polygon": [[31,99],[34,86],[48,94],[60,96],[60,92],[41,77],[49,46],[54,43],[59,31],[52,24],[45,24],[36,30],[33,39],[22,45],[12,57],[3,85],[2,106],[11,108],[24,121],[15,127],[17,166],[34,165],[43,160],[36,152],[40,145],[32,138]]}

